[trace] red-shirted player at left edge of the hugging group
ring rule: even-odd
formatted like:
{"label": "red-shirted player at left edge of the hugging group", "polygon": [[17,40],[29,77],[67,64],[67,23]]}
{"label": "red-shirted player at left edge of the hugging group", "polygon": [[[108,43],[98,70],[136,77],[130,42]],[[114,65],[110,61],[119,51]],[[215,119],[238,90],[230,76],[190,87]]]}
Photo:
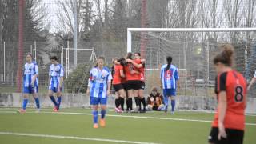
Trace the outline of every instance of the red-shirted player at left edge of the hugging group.
{"label": "red-shirted player at left edge of the hugging group", "polygon": [[[113,64],[114,61],[116,61],[118,58],[113,58]],[[119,113],[124,110],[124,98],[126,98],[126,92],[124,90],[124,87],[122,86],[122,78],[125,78],[126,75],[124,74],[122,65],[116,65],[114,64],[114,70],[113,70],[113,86],[114,90],[117,93],[117,98],[115,99],[115,110]],[[119,106],[121,106],[121,110],[119,109]]]}

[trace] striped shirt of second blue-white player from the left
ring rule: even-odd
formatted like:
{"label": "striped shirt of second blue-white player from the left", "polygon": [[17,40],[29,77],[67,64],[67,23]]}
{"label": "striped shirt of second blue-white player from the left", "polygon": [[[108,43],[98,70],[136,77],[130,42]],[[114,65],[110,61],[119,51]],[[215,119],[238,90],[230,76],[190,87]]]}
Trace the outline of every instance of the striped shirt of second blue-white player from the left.
{"label": "striped shirt of second blue-white player from the left", "polygon": [[50,78],[50,86],[58,87],[58,83],[60,82],[60,78],[64,76],[64,70],[61,64],[51,64],[49,69]]}

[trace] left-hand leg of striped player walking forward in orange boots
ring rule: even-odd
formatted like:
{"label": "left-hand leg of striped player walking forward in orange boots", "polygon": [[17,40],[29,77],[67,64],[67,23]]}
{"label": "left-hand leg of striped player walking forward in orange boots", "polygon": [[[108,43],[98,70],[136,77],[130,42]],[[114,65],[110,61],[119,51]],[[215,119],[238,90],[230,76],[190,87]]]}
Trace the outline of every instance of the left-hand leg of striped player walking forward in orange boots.
{"label": "left-hand leg of striped player walking forward in orange boots", "polygon": [[98,103],[99,98],[90,97],[90,105],[93,108],[93,120],[94,120],[94,128],[98,128]]}

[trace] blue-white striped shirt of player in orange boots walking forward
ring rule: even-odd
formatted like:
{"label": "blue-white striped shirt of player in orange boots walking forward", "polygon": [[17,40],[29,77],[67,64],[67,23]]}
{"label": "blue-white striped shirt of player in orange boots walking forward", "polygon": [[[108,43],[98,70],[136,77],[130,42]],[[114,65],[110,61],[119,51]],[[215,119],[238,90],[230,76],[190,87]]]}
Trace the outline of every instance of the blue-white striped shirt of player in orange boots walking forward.
{"label": "blue-white striped shirt of player in orange boots walking forward", "polygon": [[98,67],[90,70],[90,97],[106,98],[107,83],[111,79],[112,74],[106,66],[102,70]]}

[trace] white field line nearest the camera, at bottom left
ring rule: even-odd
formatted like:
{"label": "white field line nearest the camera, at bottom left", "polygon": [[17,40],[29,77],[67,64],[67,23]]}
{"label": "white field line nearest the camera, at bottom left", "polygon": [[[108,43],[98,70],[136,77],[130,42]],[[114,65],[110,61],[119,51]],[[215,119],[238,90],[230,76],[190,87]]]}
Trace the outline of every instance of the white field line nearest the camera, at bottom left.
{"label": "white field line nearest the camera, at bottom left", "polygon": [[12,133],[12,132],[0,132],[2,135],[17,135],[17,136],[28,136],[28,137],[39,137],[39,138],[64,138],[64,139],[76,139],[76,140],[87,140],[87,141],[99,141],[99,142],[118,142],[118,143],[134,143],[134,144],[157,144],[152,142],[135,142],[135,141],[124,141],[116,139],[105,139],[105,138],[84,138],[74,136],[63,136],[63,135],[50,135],[50,134],[27,134],[27,133]]}

